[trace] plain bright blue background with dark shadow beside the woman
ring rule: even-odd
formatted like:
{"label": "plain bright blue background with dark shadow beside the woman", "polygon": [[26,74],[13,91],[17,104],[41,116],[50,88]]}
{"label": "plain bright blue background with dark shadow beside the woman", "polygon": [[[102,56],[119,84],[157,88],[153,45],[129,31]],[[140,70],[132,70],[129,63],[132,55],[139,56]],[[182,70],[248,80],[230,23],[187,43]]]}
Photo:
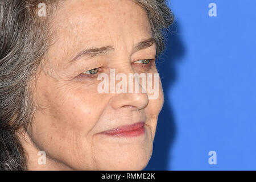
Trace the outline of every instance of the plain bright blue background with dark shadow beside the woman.
{"label": "plain bright blue background with dark shadow beside the woman", "polygon": [[175,23],[158,63],[165,102],[145,169],[256,170],[256,1],[167,3]]}

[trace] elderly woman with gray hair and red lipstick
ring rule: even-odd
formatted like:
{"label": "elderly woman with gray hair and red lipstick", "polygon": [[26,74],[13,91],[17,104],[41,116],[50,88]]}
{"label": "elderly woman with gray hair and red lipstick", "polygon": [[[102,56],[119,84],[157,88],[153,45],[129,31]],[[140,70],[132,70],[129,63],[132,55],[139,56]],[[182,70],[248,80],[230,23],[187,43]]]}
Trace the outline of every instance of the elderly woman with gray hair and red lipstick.
{"label": "elderly woman with gray hair and red lipstick", "polygon": [[146,167],[160,79],[150,100],[148,92],[100,93],[97,76],[158,73],[172,22],[164,0],[2,0],[0,169]]}

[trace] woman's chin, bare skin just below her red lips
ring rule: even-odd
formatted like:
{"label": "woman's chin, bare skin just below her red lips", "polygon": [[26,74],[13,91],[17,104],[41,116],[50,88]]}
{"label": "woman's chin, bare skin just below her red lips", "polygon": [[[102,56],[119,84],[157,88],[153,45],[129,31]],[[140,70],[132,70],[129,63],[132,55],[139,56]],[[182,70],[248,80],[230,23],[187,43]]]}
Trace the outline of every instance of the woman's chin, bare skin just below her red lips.
{"label": "woman's chin, bare skin just below her red lips", "polygon": [[97,170],[142,170],[151,158],[152,141],[145,138],[139,142],[101,142],[94,145],[93,154]]}

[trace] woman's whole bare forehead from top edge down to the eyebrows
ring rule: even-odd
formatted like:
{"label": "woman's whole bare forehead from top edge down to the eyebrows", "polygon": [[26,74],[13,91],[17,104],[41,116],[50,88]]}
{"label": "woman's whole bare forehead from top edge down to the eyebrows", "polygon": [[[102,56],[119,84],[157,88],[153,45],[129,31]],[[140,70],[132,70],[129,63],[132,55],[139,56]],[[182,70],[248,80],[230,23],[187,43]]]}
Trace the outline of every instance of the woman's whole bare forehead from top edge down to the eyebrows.
{"label": "woman's whole bare forehead from top edge down to the eyebrows", "polygon": [[51,28],[56,35],[53,46],[59,51],[109,44],[118,47],[119,43],[135,44],[151,36],[146,12],[132,0],[64,1]]}

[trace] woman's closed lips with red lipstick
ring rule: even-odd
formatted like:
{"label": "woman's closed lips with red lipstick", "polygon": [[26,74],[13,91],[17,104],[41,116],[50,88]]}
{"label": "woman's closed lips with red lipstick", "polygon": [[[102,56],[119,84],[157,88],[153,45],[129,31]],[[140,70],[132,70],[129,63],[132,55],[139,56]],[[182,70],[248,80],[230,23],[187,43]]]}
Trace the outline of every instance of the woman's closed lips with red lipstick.
{"label": "woman's closed lips with red lipstick", "polygon": [[144,134],[144,123],[135,123],[133,125],[126,125],[117,127],[112,130],[105,131],[103,134],[113,137],[138,137]]}

